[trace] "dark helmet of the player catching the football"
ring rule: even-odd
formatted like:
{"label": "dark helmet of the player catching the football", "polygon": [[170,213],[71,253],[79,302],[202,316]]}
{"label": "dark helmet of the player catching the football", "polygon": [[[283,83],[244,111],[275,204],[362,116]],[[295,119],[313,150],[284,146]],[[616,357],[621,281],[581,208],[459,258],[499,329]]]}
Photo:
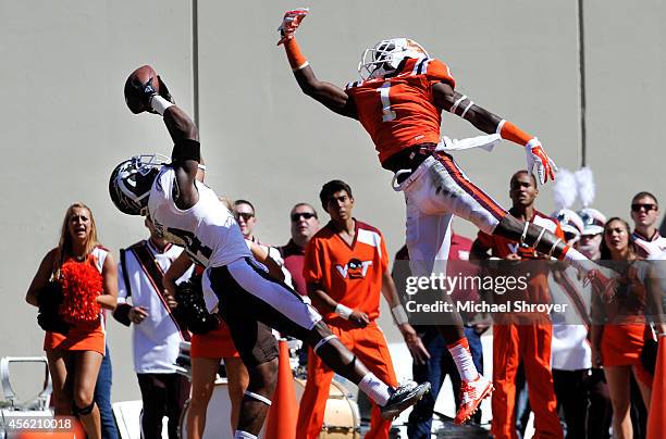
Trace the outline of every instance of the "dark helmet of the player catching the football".
{"label": "dark helmet of the player catching the football", "polygon": [[109,179],[113,204],[127,215],[145,215],[152,183],[160,168],[170,162],[162,154],[141,154],[115,166]]}

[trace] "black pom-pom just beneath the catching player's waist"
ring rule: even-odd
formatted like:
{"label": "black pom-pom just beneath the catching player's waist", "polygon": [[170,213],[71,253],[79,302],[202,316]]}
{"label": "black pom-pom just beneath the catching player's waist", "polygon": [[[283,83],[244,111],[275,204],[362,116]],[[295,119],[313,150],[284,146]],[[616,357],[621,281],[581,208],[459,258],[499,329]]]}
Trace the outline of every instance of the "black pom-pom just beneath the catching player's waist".
{"label": "black pom-pom just beneath the catching player's waist", "polygon": [[178,285],[174,299],[178,302],[174,310],[176,318],[184,322],[190,333],[207,334],[218,327],[218,317],[206,309],[200,277]]}

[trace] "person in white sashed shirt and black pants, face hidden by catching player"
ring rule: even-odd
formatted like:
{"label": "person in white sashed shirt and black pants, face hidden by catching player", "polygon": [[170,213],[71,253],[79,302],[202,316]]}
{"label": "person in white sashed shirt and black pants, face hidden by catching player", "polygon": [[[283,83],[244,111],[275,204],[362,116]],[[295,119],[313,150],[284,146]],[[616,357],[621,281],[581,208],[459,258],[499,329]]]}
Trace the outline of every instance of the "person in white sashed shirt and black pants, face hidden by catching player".
{"label": "person in white sashed shirt and black pants, face hidden by catching player", "polygon": [[[119,305],[113,313],[125,326],[134,324],[132,348],[134,372],[141,390],[141,437],[160,438],[162,418],[169,418],[170,439],[177,439],[181,412],[189,397],[189,382],[176,373],[181,341],[190,335],[164,296],[162,273],[183,252],[158,234],[147,217],[150,237],[121,250]],[[189,278],[188,271],[181,280]],[[132,304],[130,304],[132,302]]]}

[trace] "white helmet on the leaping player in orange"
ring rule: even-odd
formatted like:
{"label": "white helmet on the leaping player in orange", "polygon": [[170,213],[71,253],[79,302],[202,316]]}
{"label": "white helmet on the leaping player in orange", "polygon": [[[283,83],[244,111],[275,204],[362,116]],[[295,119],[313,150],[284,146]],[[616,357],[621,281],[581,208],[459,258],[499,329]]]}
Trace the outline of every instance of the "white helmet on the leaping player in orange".
{"label": "white helmet on the leaping player in orange", "polygon": [[366,49],[358,63],[361,79],[379,78],[395,71],[405,58],[428,58],[421,45],[409,38],[383,39]]}

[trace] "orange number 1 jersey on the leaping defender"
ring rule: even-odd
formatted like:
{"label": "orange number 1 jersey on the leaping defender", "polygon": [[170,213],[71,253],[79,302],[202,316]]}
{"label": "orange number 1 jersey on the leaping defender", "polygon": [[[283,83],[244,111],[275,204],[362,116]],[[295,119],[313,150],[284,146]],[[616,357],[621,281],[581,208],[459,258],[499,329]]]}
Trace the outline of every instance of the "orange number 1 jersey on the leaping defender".
{"label": "orange number 1 jersey on the leaping defender", "polygon": [[442,110],[432,95],[437,83],[456,85],[446,64],[410,58],[396,76],[347,85],[346,92],[356,103],[380,162],[415,145],[440,142]]}

